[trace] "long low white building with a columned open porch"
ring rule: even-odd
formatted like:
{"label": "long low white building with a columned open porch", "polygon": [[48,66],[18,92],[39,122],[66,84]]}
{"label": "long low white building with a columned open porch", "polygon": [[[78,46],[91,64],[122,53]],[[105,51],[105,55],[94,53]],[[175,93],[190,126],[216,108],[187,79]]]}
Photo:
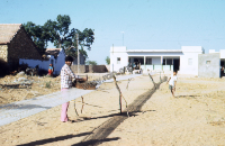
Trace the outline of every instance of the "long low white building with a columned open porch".
{"label": "long low white building with a columned open porch", "polygon": [[118,72],[128,63],[140,62],[144,72],[173,71],[198,75],[198,54],[201,46],[182,46],[179,50],[127,50],[125,46],[110,48],[110,71]]}

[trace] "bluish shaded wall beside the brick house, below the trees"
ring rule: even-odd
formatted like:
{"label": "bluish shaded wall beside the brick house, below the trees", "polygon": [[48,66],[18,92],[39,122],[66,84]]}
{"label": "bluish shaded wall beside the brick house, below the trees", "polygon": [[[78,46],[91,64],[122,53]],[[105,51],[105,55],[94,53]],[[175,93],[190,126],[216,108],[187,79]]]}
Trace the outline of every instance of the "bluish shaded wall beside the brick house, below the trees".
{"label": "bluish shaded wall beside the brick house, below the trees", "polygon": [[33,60],[33,59],[20,59],[19,64],[28,64],[29,67],[34,68],[36,65],[39,65],[39,69],[48,70],[49,64],[53,60],[54,73],[60,74],[62,66],[65,64],[65,54],[61,51],[58,57],[55,59],[54,56],[51,56],[49,60]]}

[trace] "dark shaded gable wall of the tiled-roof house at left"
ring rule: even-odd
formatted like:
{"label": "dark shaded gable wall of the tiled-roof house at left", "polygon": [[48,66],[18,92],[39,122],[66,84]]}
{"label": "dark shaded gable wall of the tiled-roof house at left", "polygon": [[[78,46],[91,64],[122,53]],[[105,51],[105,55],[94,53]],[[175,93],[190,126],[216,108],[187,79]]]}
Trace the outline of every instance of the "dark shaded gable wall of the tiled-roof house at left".
{"label": "dark shaded gable wall of the tiled-roof house at left", "polygon": [[8,44],[9,65],[19,64],[19,58],[41,59],[40,53],[23,27]]}

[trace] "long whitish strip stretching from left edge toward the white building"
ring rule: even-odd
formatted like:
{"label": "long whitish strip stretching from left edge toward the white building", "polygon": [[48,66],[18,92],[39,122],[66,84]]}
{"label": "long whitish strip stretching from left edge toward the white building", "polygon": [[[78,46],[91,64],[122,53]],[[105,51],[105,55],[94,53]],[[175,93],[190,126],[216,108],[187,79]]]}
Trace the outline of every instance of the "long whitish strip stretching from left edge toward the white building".
{"label": "long whitish strip stretching from left edge toward the white building", "polygon": [[[139,75],[118,76],[117,81],[127,80]],[[113,80],[106,80],[105,82],[113,82]],[[94,90],[82,90],[72,88],[66,92],[54,92],[48,95],[39,96],[36,98],[22,100],[7,105],[0,106],[0,126],[18,121],[20,119],[29,117],[47,109],[56,107],[65,102],[74,100],[82,95],[88,94]]]}

